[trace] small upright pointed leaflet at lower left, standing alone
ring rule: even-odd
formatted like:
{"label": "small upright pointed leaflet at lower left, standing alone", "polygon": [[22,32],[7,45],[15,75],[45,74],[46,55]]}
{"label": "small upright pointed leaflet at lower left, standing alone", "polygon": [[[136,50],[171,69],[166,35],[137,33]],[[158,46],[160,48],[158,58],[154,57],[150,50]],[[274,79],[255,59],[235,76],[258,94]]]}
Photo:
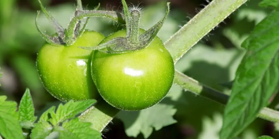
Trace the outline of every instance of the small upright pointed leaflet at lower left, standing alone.
{"label": "small upright pointed leaflet at lower left, standing alone", "polygon": [[26,88],[26,91],[23,94],[19,103],[19,121],[21,127],[26,129],[31,129],[33,127],[33,123],[37,119],[37,117],[34,116],[34,112],[35,109],[30,90]]}

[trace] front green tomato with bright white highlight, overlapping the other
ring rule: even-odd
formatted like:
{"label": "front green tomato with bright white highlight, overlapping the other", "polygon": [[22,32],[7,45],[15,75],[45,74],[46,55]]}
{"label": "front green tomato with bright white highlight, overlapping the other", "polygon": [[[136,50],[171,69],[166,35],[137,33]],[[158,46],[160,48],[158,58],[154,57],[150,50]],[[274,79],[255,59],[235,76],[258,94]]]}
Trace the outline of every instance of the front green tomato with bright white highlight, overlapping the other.
{"label": "front green tomato with bright white highlight, overlapping the other", "polygon": [[[115,37],[126,37],[126,30],[111,34],[101,43]],[[163,42],[155,37],[147,48],[136,52],[95,51],[91,74],[107,103],[117,109],[136,111],[157,104],[167,95],[174,80],[174,62]]]}

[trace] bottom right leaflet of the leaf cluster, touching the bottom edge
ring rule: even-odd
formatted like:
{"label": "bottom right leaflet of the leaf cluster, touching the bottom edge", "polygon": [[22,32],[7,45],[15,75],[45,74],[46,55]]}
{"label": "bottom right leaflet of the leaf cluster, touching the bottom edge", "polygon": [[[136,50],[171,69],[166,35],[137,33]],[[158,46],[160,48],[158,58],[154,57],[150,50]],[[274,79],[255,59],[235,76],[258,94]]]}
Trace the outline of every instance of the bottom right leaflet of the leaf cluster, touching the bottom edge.
{"label": "bottom right leaflet of the leaf cluster, touching the bottom edge", "polygon": [[102,139],[101,133],[90,128],[91,123],[80,122],[78,118],[66,121],[62,128],[58,127],[55,131],[59,132],[59,139]]}

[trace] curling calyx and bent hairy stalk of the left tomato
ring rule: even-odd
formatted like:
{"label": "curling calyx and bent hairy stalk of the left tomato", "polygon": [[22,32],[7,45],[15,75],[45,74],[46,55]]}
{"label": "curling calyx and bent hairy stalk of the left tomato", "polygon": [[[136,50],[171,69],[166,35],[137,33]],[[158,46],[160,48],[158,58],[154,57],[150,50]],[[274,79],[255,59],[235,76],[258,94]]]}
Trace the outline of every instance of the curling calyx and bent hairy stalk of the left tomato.
{"label": "curling calyx and bent hairy stalk of the left tomato", "polygon": [[[45,16],[48,18],[48,20],[52,23],[53,27],[56,30],[57,35],[56,36],[49,36],[43,33],[37,24],[38,16],[40,14],[40,11],[38,11],[36,20],[35,20],[35,25],[40,33],[40,35],[46,40],[51,45],[54,46],[70,46],[75,43],[75,41],[83,34],[85,31],[85,27],[88,23],[88,20],[90,17],[105,17],[105,18],[110,18],[114,21],[118,21],[121,23],[121,21],[124,22],[124,20],[121,20],[121,17],[124,17],[122,14],[116,13],[115,11],[99,11],[98,8],[100,7],[99,5],[94,9],[94,10],[83,10],[82,8],[82,3],[81,0],[77,0],[77,8],[74,13],[73,18],[71,19],[68,28],[64,29],[54,18],[51,16],[48,11],[44,8],[43,4],[41,3],[40,0],[39,4],[40,7],[45,14]],[[81,21],[87,18],[83,27],[81,28]]]}

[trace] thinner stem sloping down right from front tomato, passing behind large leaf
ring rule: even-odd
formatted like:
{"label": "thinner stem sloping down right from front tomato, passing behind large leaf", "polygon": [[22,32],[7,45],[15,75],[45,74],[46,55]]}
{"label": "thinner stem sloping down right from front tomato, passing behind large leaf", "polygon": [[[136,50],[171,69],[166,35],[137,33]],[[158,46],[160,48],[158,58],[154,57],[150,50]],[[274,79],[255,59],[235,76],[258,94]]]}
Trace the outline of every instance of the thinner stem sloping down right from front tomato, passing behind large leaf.
{"label": "thinner stem sloping down right from front tomato, passing behind large leaf", "polygon": [[[223,94],[217,90],[214,90],[210,87],[202,85],[197,80],[194,80],[179,71],[175,71],[174,83],[179,85],[184,90],[188,90],[190,92],[195,93],[196,95],[200,95],[207,99],[211,99],[215,102],[220,104],[226,105],[228,102],[229,96]],[[265,119],[271,122],[278,122],[279,121],[279,111],[275,111],[270,108],[263,108],[258,117],[261,119]]]}

